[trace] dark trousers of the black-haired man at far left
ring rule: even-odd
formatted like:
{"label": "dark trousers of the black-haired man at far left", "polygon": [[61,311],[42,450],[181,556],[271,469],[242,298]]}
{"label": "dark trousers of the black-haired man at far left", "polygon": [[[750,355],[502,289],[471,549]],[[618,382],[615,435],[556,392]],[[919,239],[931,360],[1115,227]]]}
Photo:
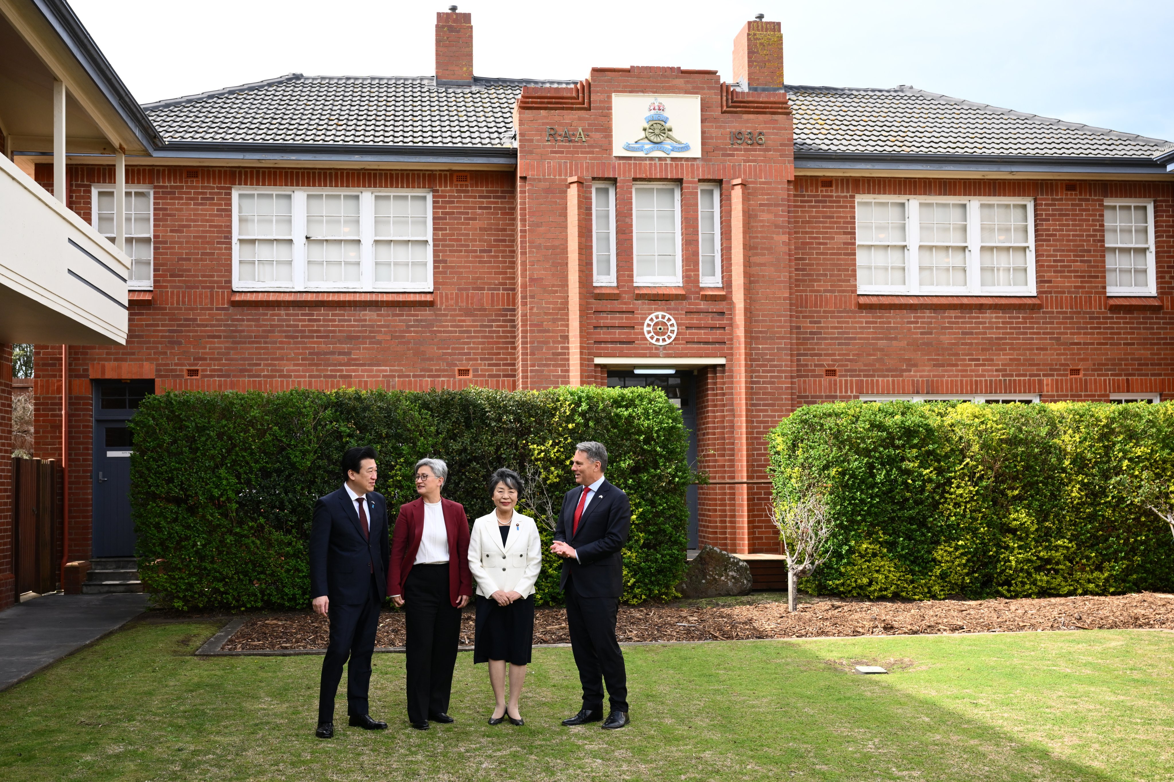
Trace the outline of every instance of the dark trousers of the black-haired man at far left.
{"label": "dark trousers of the black-haired man at far left", "polygon": [[371,654],[375,652],[375,631],[379,627],[379,592],[375,577],[367,599],[359,605],[330,601],[330,645],[322,660],[322,681],[318,685],[318,722],[335,721],[335,694],[346,666],[346,713],[367,713],[367,691],[371,688]]}

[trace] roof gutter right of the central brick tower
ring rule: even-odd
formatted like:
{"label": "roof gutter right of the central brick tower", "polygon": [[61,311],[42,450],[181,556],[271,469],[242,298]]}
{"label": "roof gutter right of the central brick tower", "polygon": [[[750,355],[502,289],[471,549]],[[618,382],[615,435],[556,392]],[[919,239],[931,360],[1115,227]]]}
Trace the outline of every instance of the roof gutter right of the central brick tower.
{"label": "roof gutter right of the central brick tower", "polygon": [[801,150],[795,150],[795,168],[898,171],[1038,171],[1048,174],[1167,174],[1170,170],[1152,157],[890,155]]}

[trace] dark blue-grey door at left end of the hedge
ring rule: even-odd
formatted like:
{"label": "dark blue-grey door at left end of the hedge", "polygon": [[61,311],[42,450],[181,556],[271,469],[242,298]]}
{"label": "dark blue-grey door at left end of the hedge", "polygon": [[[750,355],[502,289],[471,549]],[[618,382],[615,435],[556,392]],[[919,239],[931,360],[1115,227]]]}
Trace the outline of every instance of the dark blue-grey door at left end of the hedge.
{"label": "dark blue-grey door at left end of the hedge", "polygon": [[94,381],[94,553],[131,557],[135,525],[130,518],[130,454],[134,437],[127,423],[154,380]]}

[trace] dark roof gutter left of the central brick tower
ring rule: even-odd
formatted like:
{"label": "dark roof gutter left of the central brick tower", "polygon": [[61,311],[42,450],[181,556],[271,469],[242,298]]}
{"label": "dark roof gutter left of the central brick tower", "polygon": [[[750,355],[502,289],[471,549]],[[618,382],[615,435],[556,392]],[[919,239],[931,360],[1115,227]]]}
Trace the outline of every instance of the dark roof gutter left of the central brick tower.
{"label": "dark roof gutter left of the central brick tower", "polygon": [[282,144],[271,142],[173,141],[155,157],[224,161],[329,161],[337,163],[515,164],[512,147],[403,147],[380,144]]}

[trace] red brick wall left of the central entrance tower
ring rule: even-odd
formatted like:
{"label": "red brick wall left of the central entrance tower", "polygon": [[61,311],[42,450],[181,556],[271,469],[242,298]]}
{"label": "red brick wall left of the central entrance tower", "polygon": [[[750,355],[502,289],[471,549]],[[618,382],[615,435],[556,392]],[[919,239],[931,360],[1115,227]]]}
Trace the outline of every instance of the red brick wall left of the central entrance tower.
{"label": "red brick wall left of the central entrance tower", "polygon": [[[89,219],[90,184],[113,183],[114,170],[68,174],[69,205]],[[38,179],[52,182],[52,166],[39,165]],[[514,177],[472,171],[467,179],[447,171],[128,166],[128,184],[153,188],[154,291],[131,294],[140,298],[131,299],[126,347],[69,348],[70,558],[90,552],[92,378],[154,378],[156,390],[514,388]],[[436,293],[234,297],[232,186],[432,190]],[[59,458],[61,347],[38,346],[35,362],[36,455]],[[458,379],[458,367],[471,375]],[[189,379],[188,368],[200,376]]]}

